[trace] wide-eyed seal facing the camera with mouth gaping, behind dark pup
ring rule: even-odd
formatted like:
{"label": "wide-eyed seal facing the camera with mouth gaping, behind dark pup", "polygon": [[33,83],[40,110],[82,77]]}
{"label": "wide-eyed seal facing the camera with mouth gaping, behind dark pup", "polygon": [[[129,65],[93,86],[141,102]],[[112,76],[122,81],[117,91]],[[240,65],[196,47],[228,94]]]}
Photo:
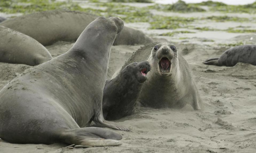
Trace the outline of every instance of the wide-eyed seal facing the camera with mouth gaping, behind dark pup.
{"label": "wide-eyed seal facing the camera with mouth gaping, behind dark pup", "polygon": [[123,67],[134,61],[145,60],[150,63],[151,71],[148,72],[148,79],[141,87],[138,104],[153,108],[182,108],[189,103],[195,110],[201,109],[200,96],[189,65],[178,54],[174,44],[145,44],[136,50]]}

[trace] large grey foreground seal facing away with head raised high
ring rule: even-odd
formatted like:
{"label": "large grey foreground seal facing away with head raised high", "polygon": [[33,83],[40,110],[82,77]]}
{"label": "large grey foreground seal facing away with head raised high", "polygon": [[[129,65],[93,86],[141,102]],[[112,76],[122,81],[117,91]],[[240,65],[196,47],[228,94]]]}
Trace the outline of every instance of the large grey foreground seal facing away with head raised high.
{"label": "large grey foreground seal facing away with head raised high", "polygon": [[122,28],[118,17],[97,18],[68,52],[8,83],[0,91],[0,138],[11,143],[121,145],[120,134],[86,126],[94,121],[128,130],[105,121],[102,113],[110,50]]}

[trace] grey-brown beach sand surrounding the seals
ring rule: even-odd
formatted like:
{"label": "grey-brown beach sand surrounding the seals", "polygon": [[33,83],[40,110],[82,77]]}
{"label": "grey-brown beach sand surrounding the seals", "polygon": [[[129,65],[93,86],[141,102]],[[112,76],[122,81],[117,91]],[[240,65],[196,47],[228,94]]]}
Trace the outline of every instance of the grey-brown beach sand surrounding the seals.
{"label": "grey-brown beach sand surrounding the seals", "polygon": [[[233,26],[231,23],[223,25]],[[251,26],[255,26],[255,23],[251,23]],[[139,28],[142,29],[143,24]],[[146,32],[152,33],[150,30]],[[153,33],[156,35],[158,32],[156,30]],[[184,42],[179,40],[185,36],[190,38]],[[148,114],[136,113],[116,121],[131,129],[117,131],[123,135],[123,145],[117,147],[61,149],[66,145],[22,145],[0,140],[0,153],[256,152],[256,66],[238,63],[234,67],[218,67],[202,63],[207,58],[219,57],[228,49],[218,45],[218,42],[242,41],[245,44],[255,44],[256,35],[230,33],[227,36],[220,31],[203,34],[198,31],[164,38],[176,42],[179,53],[189,63],[203,99],[204,110],[194,111],[190,105],[182,109],[143,108],[141,111]],[[200,41],[204,38],[215,41]],[[58,42],[46,48],[56,57],[68,51],[72,45],[69,42]],[[139,47],[140,45],[112,47],[108,79]],[[0,63],[0,90],[28,68],[30,66],[22,64]]]}

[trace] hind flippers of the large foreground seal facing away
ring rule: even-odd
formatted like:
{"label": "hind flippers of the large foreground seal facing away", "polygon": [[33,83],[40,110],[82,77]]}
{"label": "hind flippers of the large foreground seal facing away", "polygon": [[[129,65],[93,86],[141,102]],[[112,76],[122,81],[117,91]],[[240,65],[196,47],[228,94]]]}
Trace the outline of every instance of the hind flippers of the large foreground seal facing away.
{"label": "hind flippers of the large foreground seal facing away", "polygon": [[122,144],[117,141],[122,139],[121,134],[95,127],[65,130],[60,134],[60,139],[68,144],[93,147],[119,146]]}

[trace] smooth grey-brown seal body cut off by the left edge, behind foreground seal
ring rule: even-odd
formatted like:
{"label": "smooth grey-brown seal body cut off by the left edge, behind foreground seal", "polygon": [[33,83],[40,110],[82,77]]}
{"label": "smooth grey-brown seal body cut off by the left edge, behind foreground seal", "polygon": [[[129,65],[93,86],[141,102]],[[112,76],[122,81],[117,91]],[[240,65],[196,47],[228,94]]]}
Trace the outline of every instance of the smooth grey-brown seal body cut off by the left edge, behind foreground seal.
{"label": "smooth grey-brown seal body cut off by the left edge, behind foreground seal", "polygon": [[0,26],[0,62],[35,66],[51,59],[49,51],[38,41]]}

